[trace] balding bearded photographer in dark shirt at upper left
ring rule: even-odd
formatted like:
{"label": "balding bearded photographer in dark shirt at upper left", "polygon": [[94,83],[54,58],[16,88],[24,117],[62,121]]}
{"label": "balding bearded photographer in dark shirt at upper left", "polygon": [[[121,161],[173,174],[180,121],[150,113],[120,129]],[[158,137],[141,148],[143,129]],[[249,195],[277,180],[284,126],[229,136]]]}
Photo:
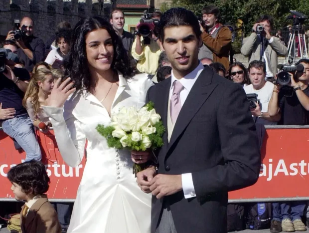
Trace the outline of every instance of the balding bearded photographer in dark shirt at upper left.
{"label": "balding bearded photographer in dark shirt at upper left", "polygon": [[[29,17],[23,17],[20,21],[19,30],[22,37],[20,40],[15,40],[18,46],[18,56],[25,62],[25,69],[32,71],[33,66],[43,60],[45,45],[43,40],[33,36],[33,20]],[[9,31],[6,40],[14,39],[14,31]]]}

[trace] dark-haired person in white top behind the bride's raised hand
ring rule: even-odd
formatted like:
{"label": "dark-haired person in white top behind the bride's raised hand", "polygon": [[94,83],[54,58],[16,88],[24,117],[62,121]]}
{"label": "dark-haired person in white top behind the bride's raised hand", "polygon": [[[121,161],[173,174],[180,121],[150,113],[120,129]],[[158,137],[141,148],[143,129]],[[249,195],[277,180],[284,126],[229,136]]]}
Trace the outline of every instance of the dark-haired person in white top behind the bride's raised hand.
{"label": "dark-haired person in white top behind the bride's raised hand", "polygon": [[71,43],[71,30],[61,29],[56,34],[57,49],[52,49],[48,53],[45,62],[54,69],[63,69],[63,58],[68,54]]}

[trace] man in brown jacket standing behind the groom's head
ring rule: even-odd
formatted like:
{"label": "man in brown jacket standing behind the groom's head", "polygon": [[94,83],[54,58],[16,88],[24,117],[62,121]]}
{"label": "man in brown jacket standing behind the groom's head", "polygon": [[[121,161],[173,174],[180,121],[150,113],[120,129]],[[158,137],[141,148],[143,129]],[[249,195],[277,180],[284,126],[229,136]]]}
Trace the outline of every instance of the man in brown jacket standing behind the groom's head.
{"label": "man in brown jacket standing behind the groom's head", "polygon": [[216,6],[206,6],[202,9],[203,22],[201,38],[203,46],[198,53],[198,59],[210,58],[214,62],[220,62],[225,69],[229,69],[229,52],[232,46],[232,33],[228,27],[220,23],[220,10]]}

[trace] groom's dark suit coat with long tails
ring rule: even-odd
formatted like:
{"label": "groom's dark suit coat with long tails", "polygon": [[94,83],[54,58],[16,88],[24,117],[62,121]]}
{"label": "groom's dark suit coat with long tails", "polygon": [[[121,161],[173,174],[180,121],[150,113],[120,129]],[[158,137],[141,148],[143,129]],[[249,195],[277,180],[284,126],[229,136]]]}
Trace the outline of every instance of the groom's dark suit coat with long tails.
{"label": "groom's dark suit coat with long tails", "polygon": [[167,104],[170,78],[151,87],[163,125],[164,145],[156,151],[158,174],[192,173],[196,197],[183,191],[152,200],[152,233],[162,211],[170,206],[177,233],[226,233],[228,192],[253,185],[260,172],[256,128],[246,94],[206,67],[182,105],[170,141],[167,140]]}

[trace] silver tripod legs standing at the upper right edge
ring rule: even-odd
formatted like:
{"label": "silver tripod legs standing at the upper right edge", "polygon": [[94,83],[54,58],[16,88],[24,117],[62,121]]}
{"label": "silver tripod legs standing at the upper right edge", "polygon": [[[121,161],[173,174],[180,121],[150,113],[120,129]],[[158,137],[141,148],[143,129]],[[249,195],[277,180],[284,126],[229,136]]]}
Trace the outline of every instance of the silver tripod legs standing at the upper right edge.
{"label": "silver tripod legs standing at the upper right edge", "polygon": [[[301,24],[293,26],[293,33],[290,35],[289,44],[288,44],[288,54],[286,55],[285,63],[295,62],[295,58],[296,58],[296,55],[295,55],[295,52],[296,52],[295,36],[298,36],[299,47],[300,47],[300,52],[301,52],[301,59],[303,59],[303,56],[304,56],[304,49],[305,49],[305,57],[308,59],[305,30],[302,30],[301,28],[302,28]],[[302,46],[301,38],[303,39],[304,47]],[[292,48],[293,48],[293,54],[291,56]],[[292,62],[289,61],[290,58],[293,59]]]}

